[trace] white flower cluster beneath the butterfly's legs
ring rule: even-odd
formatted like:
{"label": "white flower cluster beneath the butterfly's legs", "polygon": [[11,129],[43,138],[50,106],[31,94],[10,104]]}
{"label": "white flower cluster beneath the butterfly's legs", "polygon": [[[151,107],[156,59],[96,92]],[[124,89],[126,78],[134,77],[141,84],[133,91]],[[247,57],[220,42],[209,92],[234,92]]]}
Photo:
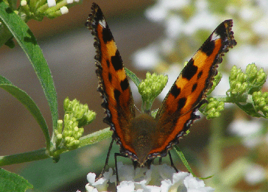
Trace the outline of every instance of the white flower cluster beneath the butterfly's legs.
{"label": "white flower cluster beneath the butterfly's legs", "polygon": [[[150,169],[136,168],[133,166],[118,163],[118,175],[120,184],[117,186],[117,192],[172,192],[172,191],[207,191],[212,192],[212,187],[205,186],[203,180],[193,177],[188,172],[178,172],[168,165],[151,165]],[[108,182],[116,183],[116,175],[110,168],[105,172],[103,178],[95,182],[96,175],[89,173],[87,175],[87,192],[107,191]]]}

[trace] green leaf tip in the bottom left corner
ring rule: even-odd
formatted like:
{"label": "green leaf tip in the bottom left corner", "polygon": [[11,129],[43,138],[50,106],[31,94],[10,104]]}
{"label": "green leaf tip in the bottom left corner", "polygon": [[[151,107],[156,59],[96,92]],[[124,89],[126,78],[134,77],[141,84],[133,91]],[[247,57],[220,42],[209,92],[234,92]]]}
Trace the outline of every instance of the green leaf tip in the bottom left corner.
{"label": "green leaf tip in the bottom left corner", "polygon": [[33,188],[33,186],[25,180],[23,177],[8,172],[4,169],[0,169],[0,191],[16,191],[23,192],[28,188]]}

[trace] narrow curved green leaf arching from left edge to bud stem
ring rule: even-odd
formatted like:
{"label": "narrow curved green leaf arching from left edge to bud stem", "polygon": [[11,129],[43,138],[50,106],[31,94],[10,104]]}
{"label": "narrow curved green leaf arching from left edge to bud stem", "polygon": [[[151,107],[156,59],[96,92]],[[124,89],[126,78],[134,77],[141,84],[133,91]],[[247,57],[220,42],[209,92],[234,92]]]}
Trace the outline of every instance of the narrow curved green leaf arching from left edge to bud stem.
{"label": "narrow curved green leaf arching from left edge to bud stem", "polygon": [[29,97],[26,92],[13,85],[8,79],[2,76],[0,76],[0,87],[12,94],[29,110],[33,117],[35,117],[45,135],[47,148],[49,148],[50,138],[47,123],[36,103]]}

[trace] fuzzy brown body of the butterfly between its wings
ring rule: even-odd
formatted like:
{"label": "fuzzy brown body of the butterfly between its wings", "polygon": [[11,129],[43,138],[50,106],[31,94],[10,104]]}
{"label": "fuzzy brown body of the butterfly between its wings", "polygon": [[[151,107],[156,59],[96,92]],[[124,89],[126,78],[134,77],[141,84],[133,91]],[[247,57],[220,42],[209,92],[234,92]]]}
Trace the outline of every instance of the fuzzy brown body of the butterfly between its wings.
{"label": "fuzzy brown body of the butterfly between its wings", "polygon": [[146,113],[132,119],[130,123],[132,148],[137,154],[138,165],[143,167],[148,160],[147,157],[154,146],[154,134],[157,121]]}

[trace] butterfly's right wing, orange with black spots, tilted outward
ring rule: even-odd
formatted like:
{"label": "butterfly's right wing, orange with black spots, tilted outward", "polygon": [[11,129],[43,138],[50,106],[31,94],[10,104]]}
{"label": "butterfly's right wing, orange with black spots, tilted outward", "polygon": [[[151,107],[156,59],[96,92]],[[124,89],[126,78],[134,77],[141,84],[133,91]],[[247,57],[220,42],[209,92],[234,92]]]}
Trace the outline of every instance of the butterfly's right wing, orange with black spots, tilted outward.
{"label": "butterfly's right wing, orange with black spots, tilted outward", "polygon": [[158,121],[155,146],[150,154],[163,156],[178,143],[193,120],[195,111],[206,102],[206,93],[212,86],[222,56],[236,45],[231,31],[232,20],[223,21],[189,60],[166,95],[155,119]]}

